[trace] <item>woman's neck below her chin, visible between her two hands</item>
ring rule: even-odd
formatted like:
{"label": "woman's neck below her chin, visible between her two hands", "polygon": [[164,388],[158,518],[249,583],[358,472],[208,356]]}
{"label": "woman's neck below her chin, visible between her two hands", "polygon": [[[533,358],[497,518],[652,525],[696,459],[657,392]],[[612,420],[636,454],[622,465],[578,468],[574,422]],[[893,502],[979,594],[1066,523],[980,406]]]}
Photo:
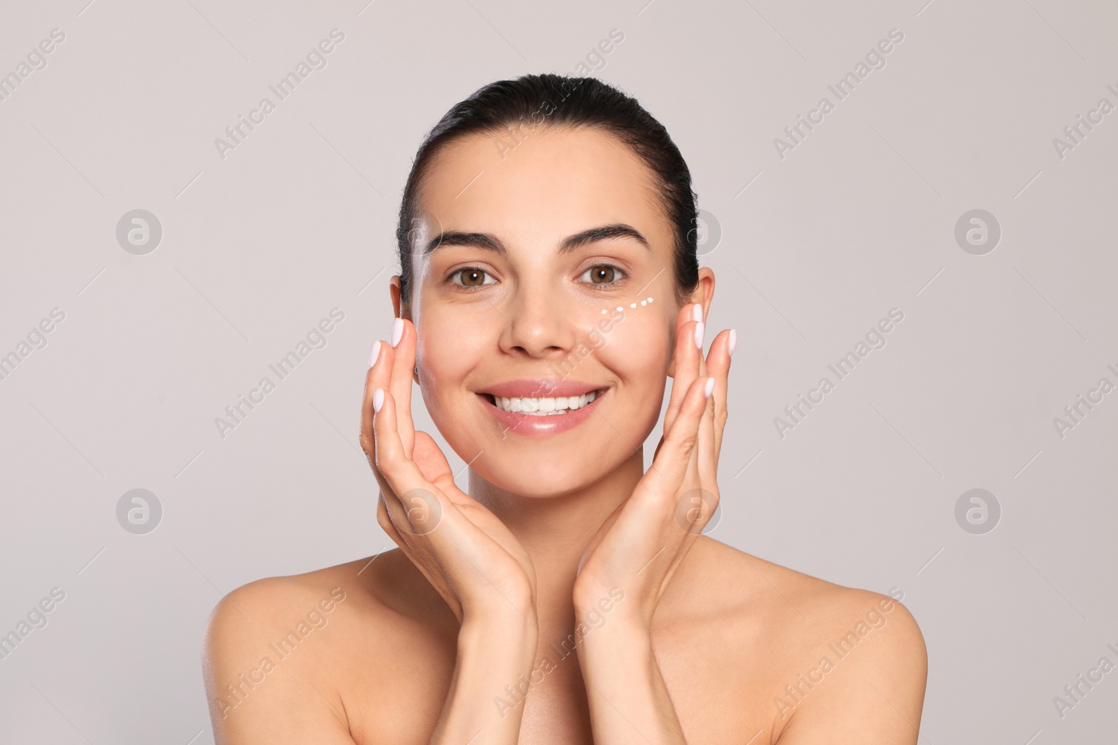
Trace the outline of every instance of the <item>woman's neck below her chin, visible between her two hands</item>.
{"label": "woman's neck below her chin, visible between her two hands", "polygon": [[496,515],[532,558],[541,632],[563,629],[574,621],[571,592],[579,561],[643,475],[643,446],[594,484],[544,498],[501,489],[470,470],[470,496]]}

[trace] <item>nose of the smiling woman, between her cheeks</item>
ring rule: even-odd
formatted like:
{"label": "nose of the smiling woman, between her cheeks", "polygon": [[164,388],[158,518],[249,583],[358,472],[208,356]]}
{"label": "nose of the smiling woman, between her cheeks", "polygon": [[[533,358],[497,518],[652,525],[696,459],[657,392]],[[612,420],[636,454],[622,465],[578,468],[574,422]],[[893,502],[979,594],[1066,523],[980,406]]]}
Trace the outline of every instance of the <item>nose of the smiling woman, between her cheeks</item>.
{"label": "nose of the smiling woman, between her cheeks", "polygon": [[503,317],[502,352],[541,360],[570,353],[578,337],[577,323],[561,292],[531,283],[504,300],[493,306]]}

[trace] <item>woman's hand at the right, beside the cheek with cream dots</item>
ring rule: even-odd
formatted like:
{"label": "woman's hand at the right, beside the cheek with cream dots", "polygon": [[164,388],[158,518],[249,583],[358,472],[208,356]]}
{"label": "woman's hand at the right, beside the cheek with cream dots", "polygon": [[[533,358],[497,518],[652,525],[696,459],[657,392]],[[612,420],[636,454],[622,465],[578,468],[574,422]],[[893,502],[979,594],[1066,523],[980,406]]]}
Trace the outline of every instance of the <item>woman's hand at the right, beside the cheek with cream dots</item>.
{"label": "woman's hand at the right, beside the cheek with cream dots", "polygon": [[[720,333],[702,356],[702,306],[675,321],[674,381],[664,434],[633,495],[590,541],[575,580],[581,617],[619,588],[624,614],[647,629],[672,574],[718,507],[718,456],[735,332]],[[711,388],[712,386],[712,388]]]}

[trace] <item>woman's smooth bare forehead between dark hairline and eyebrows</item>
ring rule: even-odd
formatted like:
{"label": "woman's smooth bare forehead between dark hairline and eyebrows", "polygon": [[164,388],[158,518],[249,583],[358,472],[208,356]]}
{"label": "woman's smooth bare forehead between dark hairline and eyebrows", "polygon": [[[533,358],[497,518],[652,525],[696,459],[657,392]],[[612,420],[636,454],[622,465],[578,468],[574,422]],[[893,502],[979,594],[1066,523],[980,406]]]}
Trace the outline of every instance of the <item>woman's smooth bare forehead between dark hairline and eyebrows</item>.
{"label": "woman's smooth bare forehead between dark hairline and eyebrows", "polygon": [[510,246],[555,243],[599,225],[631,225],[655,246],[672,229],[656,176],[627,145],[590,128],[471,135],[424,178],[420,207],[444,230],[501,235]]}

